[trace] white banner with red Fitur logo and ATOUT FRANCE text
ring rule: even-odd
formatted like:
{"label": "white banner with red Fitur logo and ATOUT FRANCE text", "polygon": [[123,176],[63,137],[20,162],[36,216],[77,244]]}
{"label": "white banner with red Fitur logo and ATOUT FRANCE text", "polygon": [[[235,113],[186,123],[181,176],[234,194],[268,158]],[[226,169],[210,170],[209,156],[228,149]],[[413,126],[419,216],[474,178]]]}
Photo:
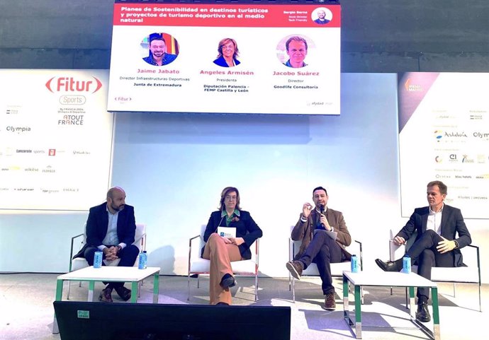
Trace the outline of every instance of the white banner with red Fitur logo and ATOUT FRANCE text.
{"label": "white banner with red Fitur logo and ATOUT FRANCE text", "polygon": [[109,185],[106,70],[0,70],[0,209],[86,211]]}

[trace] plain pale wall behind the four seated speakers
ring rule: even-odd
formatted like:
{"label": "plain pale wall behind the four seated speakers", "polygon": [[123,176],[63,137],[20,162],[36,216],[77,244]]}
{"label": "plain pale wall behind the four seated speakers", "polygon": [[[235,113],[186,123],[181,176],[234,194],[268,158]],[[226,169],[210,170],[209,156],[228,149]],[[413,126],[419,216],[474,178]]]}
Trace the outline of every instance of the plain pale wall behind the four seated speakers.
{"label": "plain pale wall behind the four seated speakers", "polygon": [[[264,231],[262,274],[286,276],[291,225],[322,185],[328,206],[342,211],[352,236],[364,242],[364,270],[380,270],[373,259],[388,257],[388,230],[405,223],[396,86],[395,74],[342,74],[339,117],[116,115],[112,184],[125,188],[136,221],[147,224],[148,264],[186,274],[189,238],[232,185]],[[94,197],[93,205],[103,200]],[[421,187],[419,206],[425,204]],[[84,221],[86,213],[1,214],[0,271],[67,271],[69,239]],[[487,221],[466,223],[473,242],[486,245]]]}

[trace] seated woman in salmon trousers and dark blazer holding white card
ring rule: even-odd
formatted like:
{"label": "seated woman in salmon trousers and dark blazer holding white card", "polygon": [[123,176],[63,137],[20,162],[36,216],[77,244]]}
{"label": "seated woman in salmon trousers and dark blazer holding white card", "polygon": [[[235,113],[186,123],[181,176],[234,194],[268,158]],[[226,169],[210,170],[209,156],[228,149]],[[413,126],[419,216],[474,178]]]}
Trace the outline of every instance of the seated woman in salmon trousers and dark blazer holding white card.
{"label": "seated woman in salmon trousers and dark blazer holding white card", "polygon": [[[210,305],[230,305],[230,288],[236,285],[231,262],[251,259],[249,247],[263,233],[248,211],[240,208],[240,192],[235,187],[225,187],[220,194],[219,210],[210,214],[203,240],[203,259],[210,259]],[[232,229],[235,235],[219,235],[218,228]]]}

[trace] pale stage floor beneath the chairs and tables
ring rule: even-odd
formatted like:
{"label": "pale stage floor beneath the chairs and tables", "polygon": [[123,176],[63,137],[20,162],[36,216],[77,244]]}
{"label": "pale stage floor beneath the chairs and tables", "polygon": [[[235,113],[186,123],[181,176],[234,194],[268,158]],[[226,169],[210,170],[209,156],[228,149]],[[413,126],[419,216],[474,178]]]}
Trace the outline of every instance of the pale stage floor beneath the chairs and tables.
{"label": "pale stage floor beneath the chairs and tables", "polygon": [[[55,300],[56,278],[59,274],[0,274],[0,339],[47,340],[60,339],[52,334],[52,302]],[[290,306],[292,311],[292,340],[337,340],[354,339],[343,319],[342,282],[335,279],[337,309],[322,310],[324,298],[320,279],[296,281],[296,303],[288,291],[286,278],[260,278],[259,300],[254,302],[254,279],[237,278],[232,288],[234,305]],[[67,284],[64,283],[63,300],[66,300]],[[129,285],[127,285],[129,288]],[[96,283],[95,294],[103,288]],[[483,312],[478,312],[477,286],[457,286],[456,298],[452,286],[439,283],[439,314],[442,340],[478,339],[480,325],[489,316],[489,285],[483,285]],[[146,280],[141,289],[140,303],[152,302],[152,280]],[[70,300],[86,301],[88,284],[72,283]],[[125,303],[113,293],[114,303]],[[201,288],[197,280],[191,279],[191,298],[187,300],[186,276],[160,276],[159,303],[208,304],[208,278],[201,277]],[[405,309],[405,290],[379,287],[364,288],[362,306],[362,337],[375,340],[428,339],[408,320]],[[354,306],[350,305],[350,310]],[[430,305],[431,308],[431,305]],[[431,311],[431,309],[430,309]],[[479,325],[479,326],[478,326]],[[427,323],[432,327],[432,322]],[[260,339],[253,339],[260,340]]]}

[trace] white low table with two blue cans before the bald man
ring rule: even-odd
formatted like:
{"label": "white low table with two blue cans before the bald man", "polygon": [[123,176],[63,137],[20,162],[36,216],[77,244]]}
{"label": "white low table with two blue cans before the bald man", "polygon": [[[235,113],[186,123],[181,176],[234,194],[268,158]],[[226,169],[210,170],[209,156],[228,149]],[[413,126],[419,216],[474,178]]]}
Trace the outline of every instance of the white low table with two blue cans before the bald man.
{"label": "white low table with two blue cans before the bald man", "polygon": [[[64,281],[88,281],[89,282],[89,298],[88,301],[94,300],[95,283],[98,281],[104,282],[130,282],[131,296],[130,302],[137,301],[137,288],[140,281],[153,276],[153,303],[158,303],[159,294],[159,267],[150,266],[146,269],[137,269],[135,266],[102,266],[94,268],[93,266],[72,271],[67,274],[62,274],[57,277],[56,281],[56,301],[62,300],[63,282]],[[59,333],[56,321],[52,324],[52,332]]]}

